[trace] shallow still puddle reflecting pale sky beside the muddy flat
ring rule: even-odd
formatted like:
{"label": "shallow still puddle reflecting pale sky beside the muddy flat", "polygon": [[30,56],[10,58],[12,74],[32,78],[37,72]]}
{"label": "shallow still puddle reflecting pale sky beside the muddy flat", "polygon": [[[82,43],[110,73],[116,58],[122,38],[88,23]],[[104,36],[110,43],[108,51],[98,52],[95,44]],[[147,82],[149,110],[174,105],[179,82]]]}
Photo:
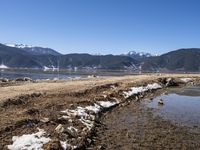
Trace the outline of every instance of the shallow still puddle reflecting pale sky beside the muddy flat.
{"label": "shallow still puddle reflecting pale sky beside the muddy flat", "polygon": [[[158,104],[163,100],[163,105]],[[200,127],[200,86],[174,89],[153,100],[145,101],[155,114],[175,123]]]}

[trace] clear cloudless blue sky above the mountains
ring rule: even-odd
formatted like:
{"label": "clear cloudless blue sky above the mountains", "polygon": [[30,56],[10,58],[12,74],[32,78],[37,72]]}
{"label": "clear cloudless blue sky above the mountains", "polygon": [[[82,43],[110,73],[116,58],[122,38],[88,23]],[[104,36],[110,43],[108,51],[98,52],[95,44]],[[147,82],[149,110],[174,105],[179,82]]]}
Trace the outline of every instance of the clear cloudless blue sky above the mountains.
{"label": "clear cloudless blue sky above the mountains", "polygon": [[0,43],[64,54],[200,47],[200,0],[1,0]]}

